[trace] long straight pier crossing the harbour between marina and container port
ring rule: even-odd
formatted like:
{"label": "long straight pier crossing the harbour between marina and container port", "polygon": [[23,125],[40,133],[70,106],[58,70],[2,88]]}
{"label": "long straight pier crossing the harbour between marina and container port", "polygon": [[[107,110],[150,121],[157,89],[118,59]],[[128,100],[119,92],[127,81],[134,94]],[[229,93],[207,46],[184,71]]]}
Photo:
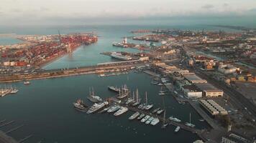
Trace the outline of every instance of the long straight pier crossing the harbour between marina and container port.
{"label": "long straight pier crossing the harbour between marina and container port", "polygon": [[145,63],[139,60],[118,61],[101,63],[96,66],[82,66],[70,69],[52,69],[35,73],[21,73],[19,75],[3,75],[0,77],[0,83],[20,82],[33,79],[52,79],[57,77],[70,77],[83,74],[101,74],[104,72],[128,71],[134,69],[136,66],[142,65],[145,65]]}

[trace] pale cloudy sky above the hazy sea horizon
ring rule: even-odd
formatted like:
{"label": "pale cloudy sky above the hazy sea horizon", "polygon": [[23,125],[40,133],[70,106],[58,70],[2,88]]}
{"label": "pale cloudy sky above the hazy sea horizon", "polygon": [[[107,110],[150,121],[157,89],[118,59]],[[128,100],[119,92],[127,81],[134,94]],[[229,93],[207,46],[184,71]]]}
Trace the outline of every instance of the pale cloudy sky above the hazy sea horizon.
{"label": "pale cloudy sky above the hazy sea horizon", "polygon": [[256,0],[0,0],[0,24],[256,16]]}

